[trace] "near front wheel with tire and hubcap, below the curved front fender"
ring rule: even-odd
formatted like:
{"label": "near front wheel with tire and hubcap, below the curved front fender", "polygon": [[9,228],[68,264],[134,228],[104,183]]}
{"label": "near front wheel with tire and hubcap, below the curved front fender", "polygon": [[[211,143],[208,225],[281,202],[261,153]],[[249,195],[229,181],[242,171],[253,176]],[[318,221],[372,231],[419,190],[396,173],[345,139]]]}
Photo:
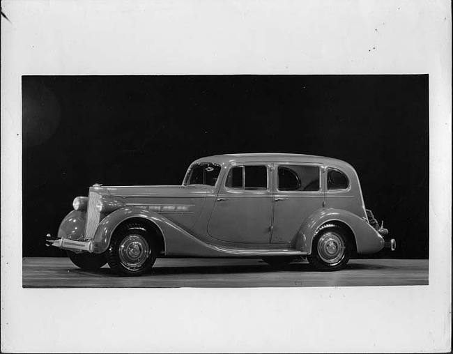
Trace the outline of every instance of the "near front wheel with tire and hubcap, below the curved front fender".
{"label": "near front wheel with tire and hubcap, below the curved front fender", "polygon": [[119,275],[134,277],[151,272],[158,254],[153,235],[137,222],[128,222],[114,232],[107,259]]}

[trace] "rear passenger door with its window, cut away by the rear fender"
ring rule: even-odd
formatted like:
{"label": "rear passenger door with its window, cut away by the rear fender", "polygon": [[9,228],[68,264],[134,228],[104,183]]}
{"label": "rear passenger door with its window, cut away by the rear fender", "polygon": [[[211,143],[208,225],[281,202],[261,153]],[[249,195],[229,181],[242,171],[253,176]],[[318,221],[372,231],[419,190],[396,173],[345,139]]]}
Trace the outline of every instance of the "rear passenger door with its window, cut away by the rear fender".
{"label": "rear passenger door with its window, cut away by the rear fender", "polygon": [[291,244],[302,222],[323,208],[321,164],[275,162],[272,243]]}

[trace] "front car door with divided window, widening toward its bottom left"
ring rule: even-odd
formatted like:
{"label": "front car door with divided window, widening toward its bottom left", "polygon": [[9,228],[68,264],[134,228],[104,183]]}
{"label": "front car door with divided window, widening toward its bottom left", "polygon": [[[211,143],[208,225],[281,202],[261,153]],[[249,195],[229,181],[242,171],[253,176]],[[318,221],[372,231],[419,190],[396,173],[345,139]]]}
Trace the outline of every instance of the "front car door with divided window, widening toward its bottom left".
{"label": "front car door with divided window, widening toward its bottom left", "polygon": [[270,168],[270,163],[229,167],[208,222],[210,236],[231,243],[270,243]]}

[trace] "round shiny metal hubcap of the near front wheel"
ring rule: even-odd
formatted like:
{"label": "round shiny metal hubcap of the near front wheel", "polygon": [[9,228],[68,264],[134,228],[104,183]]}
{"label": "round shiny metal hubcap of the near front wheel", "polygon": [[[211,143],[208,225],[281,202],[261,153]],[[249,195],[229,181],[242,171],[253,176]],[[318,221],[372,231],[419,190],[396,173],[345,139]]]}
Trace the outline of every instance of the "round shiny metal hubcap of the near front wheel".
{"label": "round shiny metal hubcap of the near front wheel", "polygon": [[145,238],[137,233],[125,237],[118,252],[121,263],[129,270],[140,268],[151,253]]}

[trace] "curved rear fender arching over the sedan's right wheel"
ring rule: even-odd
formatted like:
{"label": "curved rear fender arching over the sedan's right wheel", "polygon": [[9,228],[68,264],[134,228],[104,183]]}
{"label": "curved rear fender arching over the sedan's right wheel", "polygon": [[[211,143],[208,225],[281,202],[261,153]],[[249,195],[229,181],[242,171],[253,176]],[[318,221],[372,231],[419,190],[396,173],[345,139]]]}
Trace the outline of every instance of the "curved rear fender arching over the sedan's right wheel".
{"label": "curved rear fender arching over the sedan's right wheel", "polygon": [[311,254],[315,231],[321,225],[329,222],[342,222],[349,226],[353,231],[359,254],[379,252],[384,247],[384,239],[373,229],[367,220],[346,210],[323,208],[310,215],[304,224],[302,224],[295,240],[295,248],[300,249],[304,253]]}

